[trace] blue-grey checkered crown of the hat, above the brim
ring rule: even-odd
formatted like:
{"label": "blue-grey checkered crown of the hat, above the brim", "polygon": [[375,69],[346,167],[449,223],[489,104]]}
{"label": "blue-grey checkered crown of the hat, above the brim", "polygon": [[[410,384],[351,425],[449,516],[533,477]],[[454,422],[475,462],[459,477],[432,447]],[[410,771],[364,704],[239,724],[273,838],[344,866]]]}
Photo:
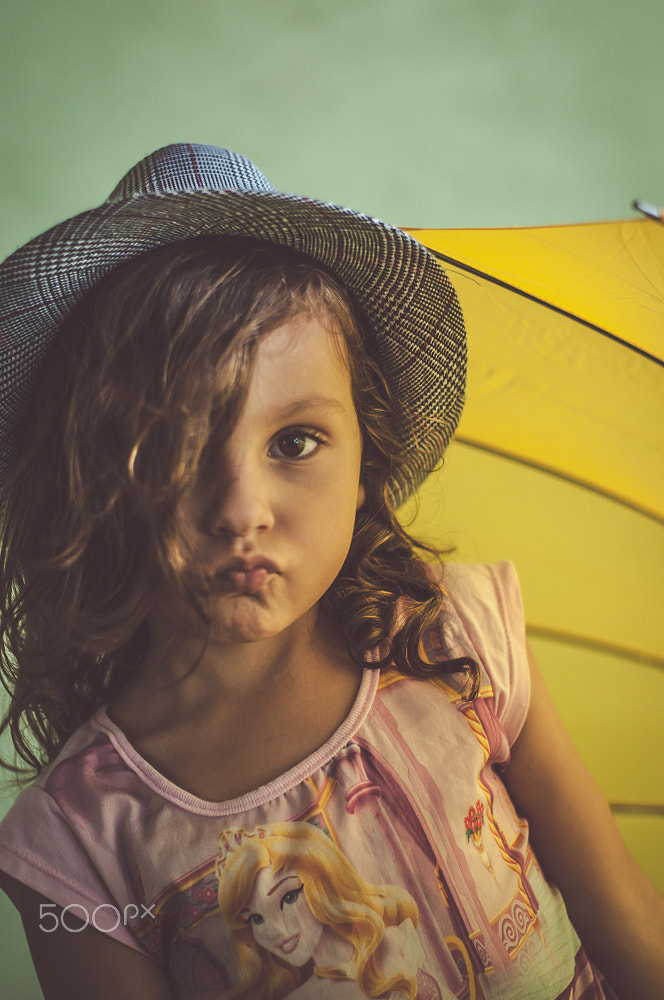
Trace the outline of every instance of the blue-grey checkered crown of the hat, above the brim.
{"label": "blue-grey checkered crown of the hat, above the brim", "polygon": [[274,187],[251,160],[229,149],[176,143],[146,156],[125,174],[108,198],[181,191],[264,191]]}

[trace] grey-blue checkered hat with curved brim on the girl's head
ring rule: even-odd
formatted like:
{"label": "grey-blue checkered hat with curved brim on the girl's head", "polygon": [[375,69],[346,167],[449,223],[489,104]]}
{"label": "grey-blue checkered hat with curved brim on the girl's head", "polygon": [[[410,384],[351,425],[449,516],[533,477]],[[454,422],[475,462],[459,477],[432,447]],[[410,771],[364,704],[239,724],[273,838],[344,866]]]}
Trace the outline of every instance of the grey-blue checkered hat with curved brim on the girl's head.
{"label": "grey-blue checkered hat with curved brim on the girl's head", "polygon": [[200,235],[248,236],[319,261],[351,291],[406,414],[405,499],[438,463],[464,401],[466,338],[436,259],[391,226],[350,209],[276,192],[244,157],[211,146],[158,150],[99,208],[31,240],[0,264],[0,488],[16,461],[32,384],[76,303],[124,261]]}

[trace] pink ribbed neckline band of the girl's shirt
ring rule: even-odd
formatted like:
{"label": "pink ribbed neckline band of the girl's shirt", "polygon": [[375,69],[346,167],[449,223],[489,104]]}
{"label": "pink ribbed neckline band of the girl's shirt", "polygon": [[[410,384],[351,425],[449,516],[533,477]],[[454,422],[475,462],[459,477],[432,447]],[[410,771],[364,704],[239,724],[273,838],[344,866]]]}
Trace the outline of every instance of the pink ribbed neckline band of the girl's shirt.
{"label": "pink ribbed neckline band of the girl's shirt", "polygon": [[198,796],[169,781],[134,749],[119,726],[109,717],[105,706],[95,712],[90,722],[93,728],[103,732],[108,737],[125,764],[162,798],[199,815],[226,816],[265,805],[279,795],[290,791],[329,763],[342,747],[355,736],[371,711],[378,689],[379,675],[380,670],[364,669],[360,687],[348,715],[323,746],[314,750],[299,764],[277,778],[273,778],[267,784],[225,802],[210,802],[207,799],[198,798]]}

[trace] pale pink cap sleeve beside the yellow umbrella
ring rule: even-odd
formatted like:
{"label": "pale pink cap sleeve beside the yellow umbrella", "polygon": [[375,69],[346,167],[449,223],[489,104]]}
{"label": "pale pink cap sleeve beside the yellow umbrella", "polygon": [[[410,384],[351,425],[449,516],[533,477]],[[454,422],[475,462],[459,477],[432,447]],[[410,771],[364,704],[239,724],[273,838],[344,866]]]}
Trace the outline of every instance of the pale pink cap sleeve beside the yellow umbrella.
{"label": "pale pink cap sleeve beside the yellow umbrella", "polygon": [[508,743],[528,714],[530,673],[521,591],[511,562],[448,563],[443,586],[479,654],[493,690],[493,707]]}

